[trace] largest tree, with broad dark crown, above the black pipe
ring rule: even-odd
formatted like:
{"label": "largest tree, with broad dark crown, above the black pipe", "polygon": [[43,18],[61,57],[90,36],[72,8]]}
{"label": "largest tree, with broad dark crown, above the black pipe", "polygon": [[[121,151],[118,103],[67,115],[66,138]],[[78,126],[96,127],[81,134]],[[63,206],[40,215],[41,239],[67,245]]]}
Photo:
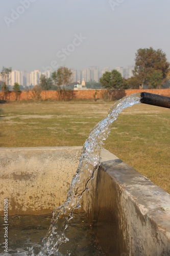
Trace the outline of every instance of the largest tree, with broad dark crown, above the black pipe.
{"label": "largest tree, with broad dark crown, above the black pipe", "polygon": [[150,88],[160,88],[169,69],[166,54],[161,49],[154,50],[150,47],[138,49],[135,56],[134,75],[138,76],[141,82],[149,84]]}

